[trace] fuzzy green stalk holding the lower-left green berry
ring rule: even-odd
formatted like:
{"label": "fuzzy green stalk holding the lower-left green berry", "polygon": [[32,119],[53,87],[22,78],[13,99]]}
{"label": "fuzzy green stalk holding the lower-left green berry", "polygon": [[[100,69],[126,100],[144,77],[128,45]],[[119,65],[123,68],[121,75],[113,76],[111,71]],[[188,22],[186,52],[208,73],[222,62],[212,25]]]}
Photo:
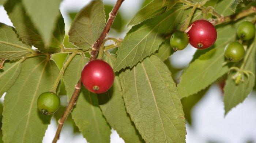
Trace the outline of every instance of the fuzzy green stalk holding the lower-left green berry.
{"label": "fuzzy green stalk holding the lower-left green berry", "polygon": [[57,77],[57,79],[55,80],[54,84],[53,84],[53,87],[52,87],[52,92],[56,93],[56,90],[57,90],[57,87],[59,85],[59,82],[60,82],[60,79],[62,78],[66,68],[68,67],[69,63],[71,62],[71,60],[75,57],[77,53],[72,53],[68,59],[66,60],[66,62],[63,64],[63,67],[61,68],[60,72],[59,72],[59,75]]}

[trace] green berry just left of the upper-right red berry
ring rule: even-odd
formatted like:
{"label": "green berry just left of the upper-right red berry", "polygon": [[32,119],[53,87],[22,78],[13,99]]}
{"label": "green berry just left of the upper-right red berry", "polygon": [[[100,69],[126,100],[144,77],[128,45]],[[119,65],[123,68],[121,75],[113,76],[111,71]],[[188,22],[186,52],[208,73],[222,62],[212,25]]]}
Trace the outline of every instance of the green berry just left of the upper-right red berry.
{"label": "green berry just left of the upper-right red berry", "polygon": [[170,45],[174,51],[186,48],[188,45],[187,33],[181,31],[174,32],[170,39]]}

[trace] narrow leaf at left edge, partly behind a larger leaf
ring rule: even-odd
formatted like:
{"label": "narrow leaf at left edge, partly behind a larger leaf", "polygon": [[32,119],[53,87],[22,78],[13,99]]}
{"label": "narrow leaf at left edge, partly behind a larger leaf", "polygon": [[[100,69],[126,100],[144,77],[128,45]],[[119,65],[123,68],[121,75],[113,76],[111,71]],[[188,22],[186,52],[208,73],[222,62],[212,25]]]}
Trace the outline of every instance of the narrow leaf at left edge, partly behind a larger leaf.
{"label": "narrow leaf at left edge, partly behind a larger leaf", "polygon": [[20,72],[20,61],[4,63],[4,69],[0,69],[0,97],[15,82]]}

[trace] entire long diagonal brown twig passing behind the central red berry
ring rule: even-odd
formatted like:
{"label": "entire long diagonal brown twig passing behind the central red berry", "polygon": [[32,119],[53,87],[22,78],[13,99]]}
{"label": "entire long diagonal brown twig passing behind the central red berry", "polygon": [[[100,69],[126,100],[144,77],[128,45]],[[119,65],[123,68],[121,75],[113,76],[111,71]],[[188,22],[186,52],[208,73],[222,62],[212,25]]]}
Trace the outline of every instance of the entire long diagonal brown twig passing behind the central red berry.
{"label": "entire long diagonal brown twig passing behind the central red berry", "polygon": [[[109,19],[108,19],[101,35],[99,36],[97,41],[93,44],[92,51],[90,52],[90,55],[91,55],[90,60],[95,60],[96,59],[97,53],[99,51],[99,47],[101,46],[104,39],[108,35],[108,32],[109,32],[109,30],[110,30],[110,28],[113,24],[113,21],[116,17],[116,14],[117,14],[121,4],[123,3],[123,1],[124,0],[117,0],[116,1],[116,4],[114,5],[112,11],[109,14]],[[61,129],[63,127],[63,124],[64,124],[65,120],[67,119],[69,113],[73,109],[74,105],[76,104],[76,100],[78,99],[81,84],[82,84],[81,79],[79,79],[78,83],[75,86],[75,91],[74,91],[71,99],[68,102],[68,106],[66,107],[66,109],[64,111],[64,114],[61,116],[60,120],[58,121],[59,125],[58,125],[57,131],[56,131],[56,134],[54,136],[54,139],[53,139],[52,143],[56,143],[57,140],[60,138],[60,132],[61,132]]]}

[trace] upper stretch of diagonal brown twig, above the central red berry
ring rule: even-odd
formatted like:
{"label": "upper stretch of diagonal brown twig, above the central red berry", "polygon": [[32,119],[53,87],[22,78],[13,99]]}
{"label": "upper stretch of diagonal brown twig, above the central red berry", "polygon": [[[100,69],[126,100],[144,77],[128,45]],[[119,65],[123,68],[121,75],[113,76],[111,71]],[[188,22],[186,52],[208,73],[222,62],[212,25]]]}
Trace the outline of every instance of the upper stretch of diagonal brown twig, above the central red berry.
{"label": "upper stretch of diagonal brown twig, above the central red berry", "polygon": [[97,41],[93,44],[92,51],[90,52],[90,60],[95,60],[97,53],[99,51],[99,47],[103,43],[105,37],[108,35],[109,30],[114,22],[114,19],[116,17],[116,14],[118,12],[118,9],[120,8],[121,4],[123,3],[124,0],[117,0],[116,4],[114,5],[112,11],[109,13],[109,19],[101,33],[101,36],[97,39]]}

